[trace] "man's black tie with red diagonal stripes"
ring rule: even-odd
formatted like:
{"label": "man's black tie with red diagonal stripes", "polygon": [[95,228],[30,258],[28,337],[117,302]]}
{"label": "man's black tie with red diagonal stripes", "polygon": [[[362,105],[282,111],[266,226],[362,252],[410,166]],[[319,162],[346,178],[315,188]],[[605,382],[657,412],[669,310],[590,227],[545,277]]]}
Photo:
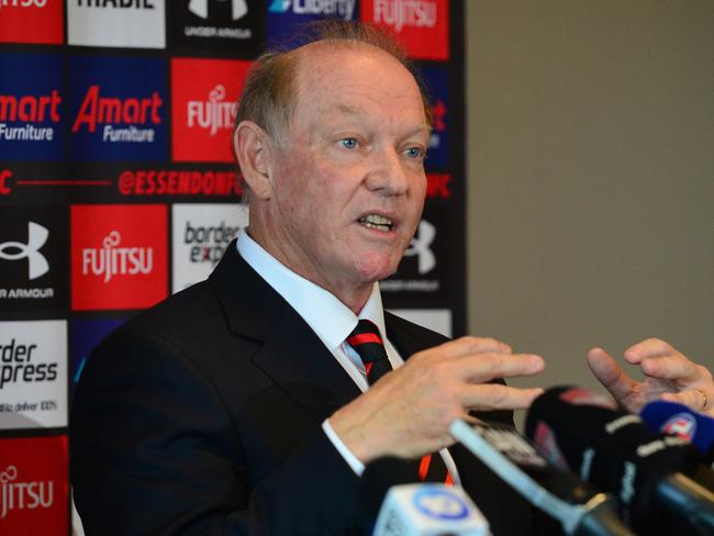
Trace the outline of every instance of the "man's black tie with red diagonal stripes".
{"label": "man's black tie with red diagonal stripes", "polygon": [[[392,369],[379,328],[368,320],[360,320],[357,327],[347,337],[365,365],[367,382],[373,386],[377,380]],[[453,484],[451,476],[438,453],[427,454],[419,462],[419,478],[426,482],[445,482]]]}

